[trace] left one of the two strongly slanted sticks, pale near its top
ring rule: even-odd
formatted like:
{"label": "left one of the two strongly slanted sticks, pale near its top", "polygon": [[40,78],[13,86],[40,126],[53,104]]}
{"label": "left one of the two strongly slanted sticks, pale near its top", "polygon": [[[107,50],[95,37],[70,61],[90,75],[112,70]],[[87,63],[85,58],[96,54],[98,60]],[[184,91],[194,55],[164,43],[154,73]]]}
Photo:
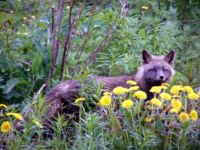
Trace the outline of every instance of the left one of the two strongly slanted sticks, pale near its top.
{"label": "left one of the two strongly slanted sticks, pale near its top", "polygon": [[[128,0],[127,0],[128,1]],[[125,4],[127,3],[127,1],[125,2]],[[86,67],[94,60],[94,58],[96,57],[96,55],[98,54],[99,48],[101,47],[101,45],[103,44],[103,42],[106,40],[106,38],[108,37],[109,33],[111,32],[112,28],[114,27],[115,23],[117,22],[117,19],[122,11],[123,7],[120,9],[119,13],[117,14],[115,20],[113,21],[112,25],[110,26],[108,32],[106,33],[106,35],[104,36],[103,40],[101,41],[101,43],[98,45],[98,47],[93,51],[93,53],[90,55],[89,61],[86,64]],[[97,53],[97,54],[96,54]],[[85,68],[86,68],[85,67]]]}

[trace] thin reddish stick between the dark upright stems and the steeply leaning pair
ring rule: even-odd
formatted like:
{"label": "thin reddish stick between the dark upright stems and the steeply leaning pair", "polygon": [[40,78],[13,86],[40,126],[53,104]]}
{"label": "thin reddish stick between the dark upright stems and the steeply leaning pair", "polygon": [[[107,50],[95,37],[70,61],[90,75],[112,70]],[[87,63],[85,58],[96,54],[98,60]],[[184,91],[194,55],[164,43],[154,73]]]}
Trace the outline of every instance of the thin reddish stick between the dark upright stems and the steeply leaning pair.
{"label": "thin reddish stick between the dark upright stems and the steeply leaning pair", "polygon": [[[78,60],[77,60],[76,65],[75,65],[75,69],[74,69],[75,71],[76,71],[76,69],[77,69],[78,63],[79,63],[80,58],[81,58],[81,55],[82,55],[82,53],[83,53],[85,44],[86,44],[86,42],[87,42],[87,40],[88,40],[88,35],[89,35],[89,31],[90,31],[90,26],[91,26],[91,24],[92,24],[92,17],[93,17],[93,15],[94,15],[94,11],[95,11],[95,9],[96,9],[96,7],[97,7],[97,3],[98,3],[98,2],[99,2],[99,0],[97,0],[95,6],[93,6],[93,8],[92,8],[92,13],[91,13],[91,16],[90,16],[90,22],[89,22],[89,25],[88,25],[87,32],[86,32],[86,34],[85,34],[85,39],[84,39],[83,45],[81,46],[81,52],[80,52],[80,54],[79,54]],[[74,76],[74,74],[75,74],[75,72],[73,72],[72,77]]]}

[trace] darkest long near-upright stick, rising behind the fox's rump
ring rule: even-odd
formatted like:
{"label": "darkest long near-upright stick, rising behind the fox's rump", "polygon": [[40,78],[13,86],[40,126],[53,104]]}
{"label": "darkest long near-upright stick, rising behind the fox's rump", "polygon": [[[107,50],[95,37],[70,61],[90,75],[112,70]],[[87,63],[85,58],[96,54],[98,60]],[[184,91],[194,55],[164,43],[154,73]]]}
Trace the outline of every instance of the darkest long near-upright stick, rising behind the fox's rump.
{"label": "darkest long near-upright stick, rising behind the fox's rump", "polygon": [[64,45],[64,51],[63,51],[63,57],[62,57],[62,64],[61,64],[61,72],[60,72],[60,77],[59,77],[59,81],[62,80],[62,76],[63,76],[63,70],[64,70],[64,63],[65,63],[65,55],[66,55],[66,51],[67,51],[67,47],[68,47],[68,43],[70,40],[70,33],[71,33],[71,15],[72,15],[72,8],[74,6],[74,0],[72,2],[72,6],[70,7],[70,11],[69,11],[69,31],[65,40],[65,45]]}

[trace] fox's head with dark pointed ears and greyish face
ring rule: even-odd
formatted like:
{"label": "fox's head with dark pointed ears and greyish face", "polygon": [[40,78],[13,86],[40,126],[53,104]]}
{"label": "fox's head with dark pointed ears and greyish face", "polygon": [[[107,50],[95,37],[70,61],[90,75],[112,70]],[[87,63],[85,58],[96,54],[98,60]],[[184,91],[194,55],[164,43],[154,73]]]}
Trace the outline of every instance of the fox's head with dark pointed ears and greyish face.
{"label": "fox's head with dark pointed ears and greyish face", "polygon": [[143,50],[142,64],[136,74],[136,79],[144,80],[150,86],[158,86],[169,82],[174,75],[174,58],[174,50],[171,50],[165,56],[154,56]]}

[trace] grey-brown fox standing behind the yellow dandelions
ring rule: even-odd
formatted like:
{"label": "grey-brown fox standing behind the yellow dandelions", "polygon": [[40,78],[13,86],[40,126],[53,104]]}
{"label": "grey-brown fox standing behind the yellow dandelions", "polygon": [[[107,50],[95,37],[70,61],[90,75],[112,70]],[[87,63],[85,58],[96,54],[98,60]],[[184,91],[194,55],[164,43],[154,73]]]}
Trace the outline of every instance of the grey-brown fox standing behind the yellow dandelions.
{"label": "grey-brown fox standing behind the yellow dandelions", "polygon": [[[167,83],[173,77],[174,58],[174,50],[171,50],[165,56],[154,56],[143,50],[141,66],[134,75],[115,77],[98,76],[94,80],[95,82],[102,82],[104,84],[103,89],[109,89],[110,91],[118,86],[129,87],[130,85],[126,84],[126,81],[134,80],[140,89],[147,93],[147,100],[150,100],[153,98],[153,94],[149,92],[151,87]],[[74,113],[77,111],[78,107],[72,103],[77,98],[79,90],[80,83],[77,80],[69,80],[52,88],[45,95],[45,99],[48,100],[47,104],[51,103],[46,116],[49,119],[54,117],[61,111],[62,106],[64,106],[63,111],[65,113]]]}

